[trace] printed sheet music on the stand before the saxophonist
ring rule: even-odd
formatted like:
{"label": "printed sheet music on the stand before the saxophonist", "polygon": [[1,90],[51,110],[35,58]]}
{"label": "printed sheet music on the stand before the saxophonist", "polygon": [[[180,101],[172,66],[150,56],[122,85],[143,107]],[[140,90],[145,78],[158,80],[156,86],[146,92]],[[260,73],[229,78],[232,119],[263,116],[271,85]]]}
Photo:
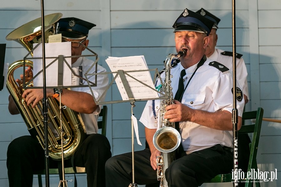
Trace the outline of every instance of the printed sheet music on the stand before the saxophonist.
{"label": "printed sheet music on the stand before the saxophonist", "polygon": [[[125,73],[126,71],[136,70],[136,72],[127,72],[127,74],[131,75],[135,79],[131,78],[130,76],[126,75],[126,79],[128,84],[131,88],[133,96],[135,99],[142,99],[142,98],[158,98],[158,93],[147,87],[146,85],[142,84],[145,83],[149,85],[151,88],[155,88],[153,81],[151,79],[151,75],[149,71],[138,71],[138,70],[148,70],[145,58],[143,55],[141,56],[127,56],[127,57],[108,57],[106,59],[106,63],[109,66],[112,72],[116,72],[117,70],[123,70]],[[116,74],[113,73],[113,76]],[[116,78],[116,85],[121,93],[121,97],[123,100],[128,100],[128,95],[124,88],[124,85],[121,81],[120,76],[118,75]],[[142,83],[141,83],[142,82]]]}

